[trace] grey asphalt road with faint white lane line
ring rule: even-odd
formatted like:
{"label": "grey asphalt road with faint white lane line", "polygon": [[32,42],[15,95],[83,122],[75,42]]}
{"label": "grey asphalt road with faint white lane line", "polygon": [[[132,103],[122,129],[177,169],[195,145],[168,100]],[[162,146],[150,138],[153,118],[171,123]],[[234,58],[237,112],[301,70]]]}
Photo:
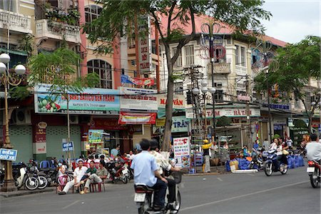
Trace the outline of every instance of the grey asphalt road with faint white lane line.
{"label": "grey asphalt road with faint white lane line", "polygon": [[[313,189],[306,167],[287,175],[263,172],[184,176],[180,213],[320,213],[320,188]],[[108,185],[105,193],[40,193],[0,198],[1,213],[136,213],[133,183]]]}

